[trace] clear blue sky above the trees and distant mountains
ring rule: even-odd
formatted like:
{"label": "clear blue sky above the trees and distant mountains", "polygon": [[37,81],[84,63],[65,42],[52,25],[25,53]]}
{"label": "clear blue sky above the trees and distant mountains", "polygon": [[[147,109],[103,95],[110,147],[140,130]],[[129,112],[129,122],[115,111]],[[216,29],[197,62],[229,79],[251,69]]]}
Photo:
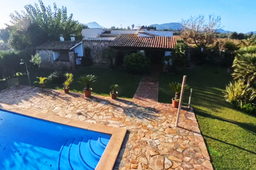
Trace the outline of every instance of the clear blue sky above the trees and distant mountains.
{"label": "clear blue sky above the trees and distant mountains", "polygon": [[[43,0],[45,5],[67,7],[68,13],[82,23],[96,21],[104,27],[179,22],[191,15],[215,13],[223,29],[256,31],[255,0]],[[10,13],[38,0],[0,0],[0,27],[9,22]]]}

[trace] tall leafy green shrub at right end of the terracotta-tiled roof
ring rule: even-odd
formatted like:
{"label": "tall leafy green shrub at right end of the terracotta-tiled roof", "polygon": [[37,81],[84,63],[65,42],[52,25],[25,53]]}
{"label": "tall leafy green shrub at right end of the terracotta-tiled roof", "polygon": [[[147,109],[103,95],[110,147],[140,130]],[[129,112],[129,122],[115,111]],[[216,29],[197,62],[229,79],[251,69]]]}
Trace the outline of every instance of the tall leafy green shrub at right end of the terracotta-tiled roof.
{"label": "tall leafy green shrub at right end of the terracotta-tiled roof", "polygon": [[175,56],[175,60],[182,65],[188,62],[188,45],[186,43],[178,42],[174,46],[172,54]]}

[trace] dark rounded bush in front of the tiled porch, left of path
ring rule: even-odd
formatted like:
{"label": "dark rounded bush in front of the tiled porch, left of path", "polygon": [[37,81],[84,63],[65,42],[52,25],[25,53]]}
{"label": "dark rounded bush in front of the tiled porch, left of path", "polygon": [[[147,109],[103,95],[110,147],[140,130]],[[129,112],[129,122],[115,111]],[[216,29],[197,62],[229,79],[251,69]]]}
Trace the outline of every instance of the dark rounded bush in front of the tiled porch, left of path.
{"label": "dark rounded bush in front of the tiled porch, left of path", "polygon": [[141,53],[131,53],[123,59],[123,66],[131,73],[147,73],[150,70],[151,61]]}

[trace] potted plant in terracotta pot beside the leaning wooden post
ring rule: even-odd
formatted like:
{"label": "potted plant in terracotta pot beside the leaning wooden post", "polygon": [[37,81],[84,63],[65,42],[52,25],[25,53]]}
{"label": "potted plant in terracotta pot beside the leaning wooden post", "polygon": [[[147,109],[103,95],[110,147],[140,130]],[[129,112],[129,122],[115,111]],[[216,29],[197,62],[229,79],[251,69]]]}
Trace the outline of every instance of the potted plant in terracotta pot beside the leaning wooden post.
{"label": "potted plant in terracotta pot beside the leaning wooden post", "polygon": [[[180,102],[180,93],[182,89],[182,84],[179,82],[172,82],[169,84],[169,86],[171,87],[172,91],[175,92],[175,97],[172,98],[173,107],[178,108],[179,102]],[[189,89],[190,89],[189,85],[185,84],[185,90],[189,90]]]}

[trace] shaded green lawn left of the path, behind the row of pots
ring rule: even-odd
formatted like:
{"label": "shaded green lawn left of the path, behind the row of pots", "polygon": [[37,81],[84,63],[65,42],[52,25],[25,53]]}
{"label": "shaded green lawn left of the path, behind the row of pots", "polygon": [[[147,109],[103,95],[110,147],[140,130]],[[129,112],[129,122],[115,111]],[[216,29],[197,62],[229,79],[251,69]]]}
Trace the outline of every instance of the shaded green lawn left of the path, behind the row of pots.
{"label": "shaded green lawn left of the path, behind the row of pots", "polygon": [[[49,69],[37,69],[30,71],[31,85],[38,86],[39,84],[34,84],[33,82],[38,80],[36,77],[42,76],[47,77],[54,70]],[[77,82],[78,77],[82,74],[93,74],[97,77],[97,81],[90,84],[92,87],[93,94],[107,95],[110,96],[111,84],[118,84],[117,88],[118,96],[124,98],[133,98],[137,90],[137,87],[141,81],[142,75],[129,74],[124,70],[109,70],[107,68],[95,68],[95,67],[80,67],[74,70],[74,81],[70,85],[70,90],[75,92],[83,93],[83,88],[85,84]],[[29,85],[28,76],[19,76],[20,84]],[[62,84],[50,84],[46,82],[46,87],[62,89]]]}

